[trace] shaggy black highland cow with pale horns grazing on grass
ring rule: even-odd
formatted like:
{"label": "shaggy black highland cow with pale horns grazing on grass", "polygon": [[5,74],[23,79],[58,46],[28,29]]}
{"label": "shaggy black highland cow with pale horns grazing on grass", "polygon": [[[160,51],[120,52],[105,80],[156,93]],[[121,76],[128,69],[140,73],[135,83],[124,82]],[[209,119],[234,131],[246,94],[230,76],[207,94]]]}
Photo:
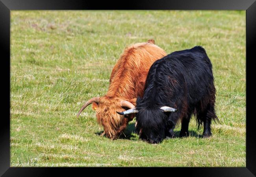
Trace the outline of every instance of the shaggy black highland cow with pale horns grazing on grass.
{"label": "shaggy black highland cow with pale horns grazing on grass", "polygon": [[136,131],[150,143],[173,137],[179,120],[180,137],[188,136],[191,114],[197,117],[198,128],[204,124],[203,137],[211,136],[211,120],[218,120],[211,68],[211,61],[200,46],[173,52],[151,66],[137,107],[118,113],[137,113]]}

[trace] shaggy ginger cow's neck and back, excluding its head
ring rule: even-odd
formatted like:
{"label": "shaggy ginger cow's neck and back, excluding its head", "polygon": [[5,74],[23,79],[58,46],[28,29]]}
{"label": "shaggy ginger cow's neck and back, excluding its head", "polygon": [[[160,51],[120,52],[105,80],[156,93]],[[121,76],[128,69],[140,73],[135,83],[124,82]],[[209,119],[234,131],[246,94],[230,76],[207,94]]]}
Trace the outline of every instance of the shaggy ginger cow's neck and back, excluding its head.
{"label": "shaggy ginger cow's neck and back, excluding its head", "polygon": [[143,96],[150,66],[165,55],[166,52],[152,41],[127,47],[111,72],[107,95],[125,100]]}

